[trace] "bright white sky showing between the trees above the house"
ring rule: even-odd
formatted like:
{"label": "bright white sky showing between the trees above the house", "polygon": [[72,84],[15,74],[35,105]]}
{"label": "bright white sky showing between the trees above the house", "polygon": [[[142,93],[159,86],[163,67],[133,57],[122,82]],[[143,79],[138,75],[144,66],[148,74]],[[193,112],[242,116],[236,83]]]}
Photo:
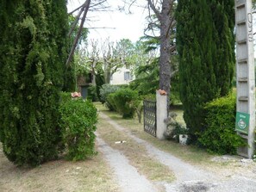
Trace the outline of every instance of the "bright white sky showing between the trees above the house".
{"label": "bright white sky showing between the trees above the house", "polygon": [[[122,5],[122,0],[108,0],[111,9],[117,9]],[[141,2],[141,1],[140,1]],[[146,2],[146,1],[145,1]],[[68,12],[76,9],[84,3],[84,0],[69,0],[67,4]],[[132,14],[128,11],[89,11],[84,26],[89,28],[90,34],[88,40],[106,40],[117,41],[129,39],[135,42],[143,36],[145,28],[145,17],[147,9],[133,7]],[[91,28],[91,29],[90,29]],[[97,28],[97,29],[92,29]]]}

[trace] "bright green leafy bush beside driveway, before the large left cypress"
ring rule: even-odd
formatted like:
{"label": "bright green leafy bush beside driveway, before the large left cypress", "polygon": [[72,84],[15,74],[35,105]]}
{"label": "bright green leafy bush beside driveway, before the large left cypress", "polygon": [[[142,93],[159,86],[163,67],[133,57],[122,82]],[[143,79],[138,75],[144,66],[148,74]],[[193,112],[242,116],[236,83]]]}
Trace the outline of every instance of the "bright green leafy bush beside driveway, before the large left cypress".
{"label": "bright green leafy bush beside driveway, before the large left cypress", "polygon": [[67,148],[66,157],[77,161],[94,155],[97,109],[92,102],[83,101],[81,98],[64,99],[60,104],[59,113],[59,126]]}

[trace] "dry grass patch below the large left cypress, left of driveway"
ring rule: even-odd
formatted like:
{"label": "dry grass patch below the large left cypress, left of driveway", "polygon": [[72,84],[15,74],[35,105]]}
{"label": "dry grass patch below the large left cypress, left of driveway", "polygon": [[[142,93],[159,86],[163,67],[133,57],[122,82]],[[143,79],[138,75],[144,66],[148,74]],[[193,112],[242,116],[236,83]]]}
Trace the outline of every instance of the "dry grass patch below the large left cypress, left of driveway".
{"label": "dry grass patch below the large left cypress, left of driveway", "polygon": [[120,191],[103,154],[85,161],[64,159],[35,168],[22,168],[9,162],[0,143],[0,191]]}

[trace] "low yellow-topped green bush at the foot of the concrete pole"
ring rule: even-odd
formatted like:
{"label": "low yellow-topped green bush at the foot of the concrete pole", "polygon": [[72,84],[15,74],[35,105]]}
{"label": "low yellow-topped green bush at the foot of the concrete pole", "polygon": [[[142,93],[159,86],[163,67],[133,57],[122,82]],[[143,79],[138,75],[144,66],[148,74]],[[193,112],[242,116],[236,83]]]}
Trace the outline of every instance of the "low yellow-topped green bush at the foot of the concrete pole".
{"label": "low yellow-topped green bush at the foot of the concrete pole", "polygon": [[234,131],[235,97],[225,96],[205,106],[205,129],[198,137],[199,143],[209,152],[235,154],[238,146],[244,146],[243,139]]}

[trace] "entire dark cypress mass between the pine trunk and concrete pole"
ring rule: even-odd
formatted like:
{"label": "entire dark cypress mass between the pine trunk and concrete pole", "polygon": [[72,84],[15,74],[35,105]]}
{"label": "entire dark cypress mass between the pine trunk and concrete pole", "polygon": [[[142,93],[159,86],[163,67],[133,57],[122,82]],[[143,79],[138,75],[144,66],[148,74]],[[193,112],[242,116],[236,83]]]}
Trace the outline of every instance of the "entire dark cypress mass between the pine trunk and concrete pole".
{"label": "entire dark cypress mass between the pine trunk and concrete pole", "polygon": [[[203,106],[231,90],[234,1],[178,1],[180,97],[192,139],[203,128]],[[195,11],[197,10],[197,11]]]}

